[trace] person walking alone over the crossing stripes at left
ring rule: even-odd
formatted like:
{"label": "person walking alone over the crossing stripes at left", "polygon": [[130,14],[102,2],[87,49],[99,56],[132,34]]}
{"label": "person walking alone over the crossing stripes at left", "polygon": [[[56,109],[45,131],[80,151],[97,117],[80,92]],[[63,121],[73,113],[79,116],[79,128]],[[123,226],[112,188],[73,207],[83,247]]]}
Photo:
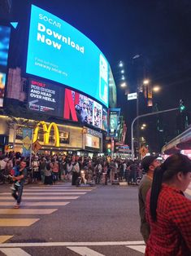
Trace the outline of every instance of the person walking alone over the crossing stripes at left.
{"label": "person walking alone over the crossing stripes at left", "polygon": [[[27,176],[27,169],[26,169],[27,163],[26,161],[20,162],[20,173],[17,176],[13,176],[12,179],[15,182],[14,190],[12,192],[12,196],[15,198],[16,205],[15,209],[20,208],[21,198],[23,194],[23,188],[24,188],[24,179]],[[19,182],[19,186],[18,186]]]}

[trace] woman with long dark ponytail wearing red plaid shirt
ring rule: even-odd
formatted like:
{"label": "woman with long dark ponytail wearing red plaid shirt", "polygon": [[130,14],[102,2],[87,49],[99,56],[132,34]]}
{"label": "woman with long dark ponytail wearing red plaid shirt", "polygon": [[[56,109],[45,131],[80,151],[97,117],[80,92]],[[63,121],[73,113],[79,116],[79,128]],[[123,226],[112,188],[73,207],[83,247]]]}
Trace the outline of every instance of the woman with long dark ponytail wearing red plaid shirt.
{"label": "woman with long dark ponytail wearing red plaid shirt", "polygon": [[191,161],[180,153],[168,157],[154,170],[146,198],[150,238],[145,255],[191,255],[191,201],[184,191],[191,182]]}

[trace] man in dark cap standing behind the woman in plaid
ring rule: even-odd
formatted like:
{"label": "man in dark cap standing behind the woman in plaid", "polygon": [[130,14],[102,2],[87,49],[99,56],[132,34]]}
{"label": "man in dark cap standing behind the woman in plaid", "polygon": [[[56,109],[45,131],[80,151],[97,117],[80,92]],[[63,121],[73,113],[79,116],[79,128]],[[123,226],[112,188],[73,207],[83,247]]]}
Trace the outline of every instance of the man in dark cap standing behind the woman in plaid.
{"label": "man in dark cap standing behind the woman in plaid", "polygon": [[153,181],[154,169],[160,165],[160,162],[157,160],[157,157],[148,156],[143,158],[141,161],[141,167],[145,170],[145,175],[141,179],[141,183],[138,188],[138,201],[139,201],[139,214],[141,218],[141,235],[146,243],[150,236],[150,225],[146,222],[145,219],[145,201],[146,194],[151,188]]}

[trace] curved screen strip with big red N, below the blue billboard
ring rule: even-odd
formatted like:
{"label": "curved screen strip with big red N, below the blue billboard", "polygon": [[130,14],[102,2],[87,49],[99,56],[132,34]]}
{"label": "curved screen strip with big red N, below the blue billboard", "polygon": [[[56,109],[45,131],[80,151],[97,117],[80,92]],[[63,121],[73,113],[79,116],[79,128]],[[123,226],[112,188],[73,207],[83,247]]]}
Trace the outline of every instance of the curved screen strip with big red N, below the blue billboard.
{"label": "curved screen strip with big red N, below the blue billboard", "polygon": [[107,110],[102,104],[50,82],[29,79],[28,109],[107,130]]}

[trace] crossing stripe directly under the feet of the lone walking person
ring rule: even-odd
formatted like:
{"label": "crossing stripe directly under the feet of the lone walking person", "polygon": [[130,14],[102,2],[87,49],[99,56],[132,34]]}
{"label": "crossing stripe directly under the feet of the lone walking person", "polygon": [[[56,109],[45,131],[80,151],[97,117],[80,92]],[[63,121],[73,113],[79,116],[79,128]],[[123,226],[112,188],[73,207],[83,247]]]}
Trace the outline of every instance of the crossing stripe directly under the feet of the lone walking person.
{"label": "crossing stripe directly under the feet of the lone walking person", "polygon": [[[22,202],[21,207],[24,206],[65,206],[70,202],[65,201],[32,201],[32,202]],[[13,202],[11,201],[0,201],[0,206],[13,206]]]}

